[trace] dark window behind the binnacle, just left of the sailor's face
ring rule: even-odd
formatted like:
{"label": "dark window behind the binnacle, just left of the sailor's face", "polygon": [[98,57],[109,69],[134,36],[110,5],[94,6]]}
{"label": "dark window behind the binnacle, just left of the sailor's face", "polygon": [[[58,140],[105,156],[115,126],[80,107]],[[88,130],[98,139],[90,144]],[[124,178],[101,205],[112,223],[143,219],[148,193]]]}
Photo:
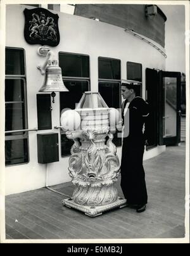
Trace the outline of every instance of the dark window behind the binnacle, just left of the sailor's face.
{"label": "dark window behind the binnacle, just left of the sailor's face", "polygon": [[[111,58],[98,58],[98,88],[99,93],[105,100],[109,108],[121,107],[120,79],[121,69],[120,60]],[[117,138],[118,132],[114,134],[113,143],[116,146],[122,145],[122,139]]]}

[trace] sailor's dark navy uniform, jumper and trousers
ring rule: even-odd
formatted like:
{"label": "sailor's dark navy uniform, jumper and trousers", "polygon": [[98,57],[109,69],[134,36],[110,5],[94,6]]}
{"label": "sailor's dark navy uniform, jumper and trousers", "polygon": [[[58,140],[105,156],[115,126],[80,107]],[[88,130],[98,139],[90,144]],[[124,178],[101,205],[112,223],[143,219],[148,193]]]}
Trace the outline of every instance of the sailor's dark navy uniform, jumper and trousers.
{"label": "sailor's dark navy uniform, jumper and trousers", "polygon": [[[141,97],[132,99],[124,113],[127,99],[122,105],[124,138],[121,162],[121,187],[127,203],[145,205],[148,200],[143,168],[144,142],[148,138],[149,105]],[[127,118],[128,115],[128,118]],[[129,124],[127,124],[129,122]],[[143,127],[145,130],[143,132]],[[126,129],[129,129],[127,131]],[[128,135],[127,137],[125,137]]]}

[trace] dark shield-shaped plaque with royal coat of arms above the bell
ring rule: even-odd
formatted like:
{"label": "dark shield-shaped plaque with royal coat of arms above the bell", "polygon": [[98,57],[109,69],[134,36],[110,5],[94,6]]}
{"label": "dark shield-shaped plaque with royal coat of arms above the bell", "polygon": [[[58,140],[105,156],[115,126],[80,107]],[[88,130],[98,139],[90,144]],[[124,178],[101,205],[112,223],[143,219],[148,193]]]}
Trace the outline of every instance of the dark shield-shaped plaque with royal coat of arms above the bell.
{"label": "dark shield-shaped plaque with royal coat of arms above the bell", "polygon": [[57,14],[44,8],[23,11],[25,15],[24,36],[28,44],[57,46],[60,43]]}

